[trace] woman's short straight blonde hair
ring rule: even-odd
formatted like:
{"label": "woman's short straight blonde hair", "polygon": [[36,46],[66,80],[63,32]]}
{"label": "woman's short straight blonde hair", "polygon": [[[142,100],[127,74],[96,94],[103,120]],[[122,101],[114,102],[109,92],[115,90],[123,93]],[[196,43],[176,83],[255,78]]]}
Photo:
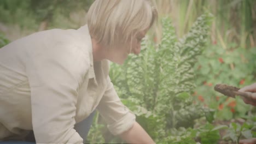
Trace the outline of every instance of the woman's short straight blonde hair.
{"label": "woman's short straight blonde hair", "polygon": [[149,29],[158,12],[149,0],[96,0],[88,11],[92,38],[106,47],[129,44],[132,36]]}

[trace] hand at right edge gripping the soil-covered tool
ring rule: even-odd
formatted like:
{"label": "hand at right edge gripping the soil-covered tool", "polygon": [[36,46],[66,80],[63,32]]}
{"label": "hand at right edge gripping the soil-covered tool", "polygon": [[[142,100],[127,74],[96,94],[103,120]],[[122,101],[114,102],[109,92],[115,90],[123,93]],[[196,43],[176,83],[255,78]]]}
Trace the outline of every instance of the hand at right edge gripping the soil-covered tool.
{"label": "hand at right edge gripping the soil-covered tool", "polygon": [[252,100],[249,100],[244,97],[242,97],[242,99],[243,99],[243,101],[245,101],[246,104],[256,106],[256,83],[253,83],[252,85],[249,85],[249,86],[245,86],[245,87],[239,89],[239,91],[240,92],[251,92]]}

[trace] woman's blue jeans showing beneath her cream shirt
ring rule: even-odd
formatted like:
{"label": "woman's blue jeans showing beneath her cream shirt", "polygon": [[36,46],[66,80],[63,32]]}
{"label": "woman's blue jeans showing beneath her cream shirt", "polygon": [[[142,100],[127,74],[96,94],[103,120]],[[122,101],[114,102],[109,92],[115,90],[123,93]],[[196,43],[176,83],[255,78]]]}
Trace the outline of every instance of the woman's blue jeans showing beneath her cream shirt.
{"label": "woman's blue jeans showing beneath her cream shirt", "polygon": [[[94,120],[95,112],[92,112],[88,118],[85,118],[82,122],[79,122],[74,125],[74,129],[77,131],[77,133],[84,139],[84,143],[86,140],[86,137],[89,133],[89,130],[91,128],[92,122]],[[33,133],[32,133],[33,135]],[[0,144],[34,144],[36,142],[28,142],[28,141],[0,141]]]}

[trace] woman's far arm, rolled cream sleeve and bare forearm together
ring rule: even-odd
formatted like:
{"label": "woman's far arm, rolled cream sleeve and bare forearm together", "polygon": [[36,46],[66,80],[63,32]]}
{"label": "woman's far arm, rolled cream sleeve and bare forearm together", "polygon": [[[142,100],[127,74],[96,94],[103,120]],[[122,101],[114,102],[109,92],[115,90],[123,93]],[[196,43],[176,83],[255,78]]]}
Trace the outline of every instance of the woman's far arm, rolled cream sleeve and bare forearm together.
{"label": "woman's far arm, rolled cream sleeve and bare forearm together", "polygon": [[97,109],[108,123],[113,135],[119,135],[128,143],[155,143],[146,131],[135,121],[135,115],[121,103],[110,78],[107,77],[108,88]]}

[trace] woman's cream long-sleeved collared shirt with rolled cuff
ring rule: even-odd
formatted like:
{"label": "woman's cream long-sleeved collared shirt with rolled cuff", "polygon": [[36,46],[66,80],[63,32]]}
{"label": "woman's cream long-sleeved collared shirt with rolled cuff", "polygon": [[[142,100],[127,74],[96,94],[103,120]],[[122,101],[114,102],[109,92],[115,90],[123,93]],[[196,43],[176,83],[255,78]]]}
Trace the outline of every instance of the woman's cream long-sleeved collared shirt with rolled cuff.
{"label": "woman's cream long-sleeved collared shirt with rolled cuff", "polygon": [[96,108],[114,135],[135,115],[120,101],[109,62],[93,62],[88,26],[28,35],[0,49],[0,141],[34,131],[37,143],[83,143],[74,130]]}

